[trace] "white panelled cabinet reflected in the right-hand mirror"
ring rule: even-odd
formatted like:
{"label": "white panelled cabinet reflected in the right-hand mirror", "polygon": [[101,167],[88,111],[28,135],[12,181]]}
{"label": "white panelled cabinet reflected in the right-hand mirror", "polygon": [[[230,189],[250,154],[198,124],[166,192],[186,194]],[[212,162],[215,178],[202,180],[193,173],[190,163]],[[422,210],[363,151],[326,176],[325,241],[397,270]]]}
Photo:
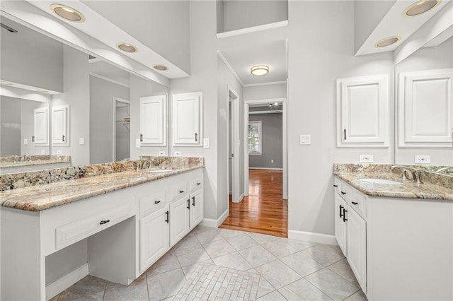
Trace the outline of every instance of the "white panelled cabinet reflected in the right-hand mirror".
{"label": "white panelled cabinet reflected in the right-hand mirror", "polygon": [[398,146],[452,147],[453,69],[400,73]]}

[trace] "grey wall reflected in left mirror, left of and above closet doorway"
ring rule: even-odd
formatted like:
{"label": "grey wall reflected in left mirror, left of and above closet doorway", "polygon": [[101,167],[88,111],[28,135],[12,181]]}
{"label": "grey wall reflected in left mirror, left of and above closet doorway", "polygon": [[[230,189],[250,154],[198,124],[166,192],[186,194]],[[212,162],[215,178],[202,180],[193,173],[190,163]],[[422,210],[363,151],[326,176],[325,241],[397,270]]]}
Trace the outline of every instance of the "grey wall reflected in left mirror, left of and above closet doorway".
{"label": "grey wall reflected in left mirror, left of and above closet doorway", "polygon": [[113,161],[113,98],[128,100],[129,94],[127,87],[90,76],[90,164]]}

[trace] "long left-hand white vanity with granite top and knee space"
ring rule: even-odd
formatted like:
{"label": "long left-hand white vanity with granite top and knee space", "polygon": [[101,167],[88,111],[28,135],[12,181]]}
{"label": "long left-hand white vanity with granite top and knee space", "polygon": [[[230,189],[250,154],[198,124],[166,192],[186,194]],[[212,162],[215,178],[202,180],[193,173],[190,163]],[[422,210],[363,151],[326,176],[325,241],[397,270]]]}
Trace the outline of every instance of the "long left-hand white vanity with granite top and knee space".
{"label": "long left-hand white vanity with granite top and knee space", "polygon": [[88,274],[129,285],[202,221],[202,167],[2,191],[1,300],[48,300]]}

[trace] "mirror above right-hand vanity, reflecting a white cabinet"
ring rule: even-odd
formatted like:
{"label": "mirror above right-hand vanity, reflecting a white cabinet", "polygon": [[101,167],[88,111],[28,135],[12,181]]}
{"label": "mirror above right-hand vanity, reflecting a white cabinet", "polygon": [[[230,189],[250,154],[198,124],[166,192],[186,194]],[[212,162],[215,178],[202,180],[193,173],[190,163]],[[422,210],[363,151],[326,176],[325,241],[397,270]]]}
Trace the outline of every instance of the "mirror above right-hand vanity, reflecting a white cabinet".
{"label": "mirror above right-hand vanity, reflecting a white cabinet", "polygon": [[396,64],[396,164],[453,165],[452,70],[453,37]]}

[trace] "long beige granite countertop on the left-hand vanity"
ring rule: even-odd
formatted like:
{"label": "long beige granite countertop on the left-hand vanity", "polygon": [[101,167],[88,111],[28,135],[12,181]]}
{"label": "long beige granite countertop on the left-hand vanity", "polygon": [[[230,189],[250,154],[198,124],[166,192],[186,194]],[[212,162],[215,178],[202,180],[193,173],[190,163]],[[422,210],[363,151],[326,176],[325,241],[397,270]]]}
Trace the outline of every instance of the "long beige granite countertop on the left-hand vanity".
{"label": "long beige granite countertop on the left-hand vanity", "polygon": [[174,167],[171,172],[155,173],[147,172],[147,170],[125,170],[105,175],[23,187],[1,191],[0,202],[1,206],[4,207],[25,211],[42,211],[202,167],[203,165],[185,165]]}

